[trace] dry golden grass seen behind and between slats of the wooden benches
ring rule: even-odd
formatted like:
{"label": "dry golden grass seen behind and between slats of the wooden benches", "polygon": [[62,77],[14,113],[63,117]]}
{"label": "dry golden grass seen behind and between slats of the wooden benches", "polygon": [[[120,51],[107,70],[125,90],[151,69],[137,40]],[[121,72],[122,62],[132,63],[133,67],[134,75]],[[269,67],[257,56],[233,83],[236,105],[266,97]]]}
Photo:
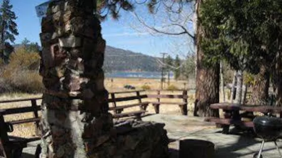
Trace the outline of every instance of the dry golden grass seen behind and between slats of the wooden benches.
{"label": "dry golden grass seen behind and between slats of the wooden benches", "polygon": [[[186,83],[186,87],[184,87],[184,83]],[[149,85],[151,89],[159,89],[160,88],[160,80],[159,79],[105,79],[105,87],[109,92],[116,92],[116,91],[125,91],[126,89],[123,88],[124,85],[130,84],[135,86],[137,89],[141,89],[141,86],[146,84]],[[194,82],[192,80],[181,81],[181,80],[171,80],[171,84],[178,87],[179,89],[183,88],[193,88]],[[164,89],[168,87],[167,83],[164,83]],[[147,94],[156,94],[156,92],[147,92]],[[164,91],[161,94],[181,94],[181,91]],[[142,94],[142,93],[141,93]],[[136,95],[135,93],[127,93],[127,94],[116,94],[116,97],[125,97],[130,95]],[[188,115],[192,112],[192,102],[194,98],[193,93],[188,93],[189,97],[189,104],[188,104]],[[11,100],[11,99],[21,99],[21,98],[33,98],[33,97],[41,97],[42,94],[21,94],[21,93],[11,93],[5,94],[0,96],[0,100]],[[110,96],[109,96],[110,97]],[[156,99],[147,99],[144,98],[142,101],[156,101]],[[182,102],[182,99],[161,99],[161,101],[167,102]],[[133,104],[138,103],[138,100],[126,101],[126,102],[119,102],[117,105],[126,105],[126,104]],[[38,105],[41,105],[41,100],[37,101]],[[13,103],[1,103],[0,109],[6,108],[18,108],[18,107],[26,107],[31,106],[30,101],[24,102],[13,102]],[[109,106],[112,106],[111,103]],[[124,112],[130,112],[139,110],[139,107],[133,107],[125,109]],[[147,107],[148,113],[155,113],[154,108],[152,105]],[[162,114],[178,114],[181,115],[180,108],[178,105],[160,105],[160,113]],[[40,114],[41,115],[41,114]],[[9,120],[19,120],[19,119],[26,119],[26,118],[33,118],[33,113],[23,113],[23,114],[14,114],[14,115],[7,115],[4,116],[5,121]],[[14,132],[9,133],[9,135],[13,136],[20,136],[20,137],[34,137],[36,136],[35,133],[35,125],[34,123],[24,123],[19,125],[14,125]]]}

